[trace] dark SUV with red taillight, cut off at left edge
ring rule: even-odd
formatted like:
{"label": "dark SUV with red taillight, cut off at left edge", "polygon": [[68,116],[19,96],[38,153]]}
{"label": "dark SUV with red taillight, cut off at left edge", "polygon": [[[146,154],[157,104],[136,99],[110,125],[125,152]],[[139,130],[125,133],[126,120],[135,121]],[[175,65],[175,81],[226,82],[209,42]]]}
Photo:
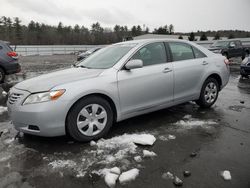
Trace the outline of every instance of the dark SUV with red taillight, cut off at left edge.
{"label": "dark SUV with red taillight, cut off at left edge", "polygon": [[5,75],[20,71],[18,54],[10,47],[9,42],[0,40],[0,83],[4,82]]}

